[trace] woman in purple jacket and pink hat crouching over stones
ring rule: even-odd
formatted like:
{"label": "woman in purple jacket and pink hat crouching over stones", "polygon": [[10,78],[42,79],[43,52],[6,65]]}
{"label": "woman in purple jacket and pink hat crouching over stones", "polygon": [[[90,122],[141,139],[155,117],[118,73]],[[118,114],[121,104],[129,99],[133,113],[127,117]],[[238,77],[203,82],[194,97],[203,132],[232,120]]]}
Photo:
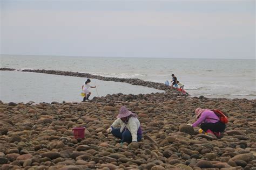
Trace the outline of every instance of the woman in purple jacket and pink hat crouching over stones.
{"label": "woman in purple jacket and pink hat crouching over stones", "polygon": [[197,108],[194,113],[198,120],[195,123],[188,125],[191,125],[192,127],[200,125],[200,128],[203,131],[217,137],[220,136],[220,132],[225,130],[226,125],[220,122],[219,117],[212,110]]}

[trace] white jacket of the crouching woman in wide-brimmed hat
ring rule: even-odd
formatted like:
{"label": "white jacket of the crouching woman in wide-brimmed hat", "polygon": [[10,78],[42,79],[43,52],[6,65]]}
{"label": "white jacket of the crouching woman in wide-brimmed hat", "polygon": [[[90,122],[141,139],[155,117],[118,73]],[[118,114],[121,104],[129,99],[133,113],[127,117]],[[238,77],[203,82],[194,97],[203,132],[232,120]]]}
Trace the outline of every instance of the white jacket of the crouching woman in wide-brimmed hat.
{"label": "white jacket of the crouching woman in wide-brimmed hat", "polygon": [[117,128],[118,125],[121,126],[120,132],[122,132],[126,127],[132,134],[132,141],[137,141],[137,132],[140,123],[136,117],[130,117],[127,124],[125,124],[120,118],[118,118],[116,119],[116,121],[114,121],[114,123],[111,126],[113,128]]}

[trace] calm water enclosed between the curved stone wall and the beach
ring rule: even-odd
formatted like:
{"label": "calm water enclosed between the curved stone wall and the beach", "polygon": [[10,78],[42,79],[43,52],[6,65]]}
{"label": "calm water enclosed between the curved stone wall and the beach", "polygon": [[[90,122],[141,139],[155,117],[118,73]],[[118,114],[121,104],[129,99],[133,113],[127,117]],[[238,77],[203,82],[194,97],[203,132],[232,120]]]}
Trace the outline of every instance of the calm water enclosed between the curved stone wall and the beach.
{"label": "calm water enclosed between the curved stone wall and the beach", "polygon": [[[80,102],[82,85],[86,79],[42,73],[0,71],[0,100],[3,102]],[[128,83],[91,79],[91,86],[97,86],[99,96],[107,94],[147,94],[164,92]],[[90,89],[90,99],[97,95],[95,88]]]}

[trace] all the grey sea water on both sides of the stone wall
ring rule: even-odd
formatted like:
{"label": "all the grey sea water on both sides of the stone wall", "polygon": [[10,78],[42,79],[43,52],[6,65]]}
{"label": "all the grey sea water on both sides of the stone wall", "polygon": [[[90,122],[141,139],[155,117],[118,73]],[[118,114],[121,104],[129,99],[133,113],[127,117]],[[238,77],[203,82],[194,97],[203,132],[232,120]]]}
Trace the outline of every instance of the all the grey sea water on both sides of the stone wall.
{"label": "all the grey sea water on both sides of the stone wall", "polygon": [[[164,83],[175,74],[191,96],[208,98],[256,98],[255,59],[174,59],[174,58],[113,58],[85,56],[1,55],[0,67],[16,69],[47,69],[90,73],[107,77],[138,78]],[[85,81],[82,77],[40,73],[0,72],[0,100],[43,102],[44,100],[80,101]],[[156,93],[146,87],[127,83],[95,80],[99,96],[106,94]],[[121,86],[120,84],[123,84]],[[78,90],[69,90],[69,89]],[[95,89],[92,89],[95,90]],[[38,91],[44,91],[38,95]],[[15,92],[15,93],[14,93]],[[58,93],[58,95],[57,95]],[[38,98],[31,94],[37,94]],[[94,96],[97,91],[93,91]],[[26,97],[22,97],[22,96]],[[12,97],[7,97],[12,96]],[[31,97],[32,96],[32,97]],[[65,96],[65,97],[64,97]],[[25,100],[26,99],[26,100]]]}

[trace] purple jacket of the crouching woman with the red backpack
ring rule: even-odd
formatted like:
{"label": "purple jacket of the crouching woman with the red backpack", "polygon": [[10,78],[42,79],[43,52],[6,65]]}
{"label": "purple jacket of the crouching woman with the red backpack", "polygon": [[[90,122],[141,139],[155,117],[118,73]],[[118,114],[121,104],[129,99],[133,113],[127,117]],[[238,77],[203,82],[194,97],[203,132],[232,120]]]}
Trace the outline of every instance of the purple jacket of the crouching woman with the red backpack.
{"label": "purple jacket of the crouching woman with the red backpack", "polygon": [[196,127],[201,123],[216,123],[216,122],[219,122],[219,117],[215,115],[213,111],[206,110],[201,114],[197,122],[192,124],[192,127]]}

